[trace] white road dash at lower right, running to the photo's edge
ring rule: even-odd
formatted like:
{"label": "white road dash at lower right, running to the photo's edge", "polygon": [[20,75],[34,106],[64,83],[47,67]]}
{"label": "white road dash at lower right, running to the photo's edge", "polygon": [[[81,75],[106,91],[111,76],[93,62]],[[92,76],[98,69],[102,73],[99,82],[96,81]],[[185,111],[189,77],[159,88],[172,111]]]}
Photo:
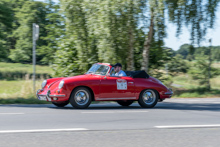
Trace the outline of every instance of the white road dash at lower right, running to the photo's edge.
{"label": "white road dash at lower right, running to the photo's edge", "polygon": [[207,127],[220,127],[220,124],[211,125],[173,125],[173,126],[154,126],[155,128],[167,129],[167,128],[207,128]]}

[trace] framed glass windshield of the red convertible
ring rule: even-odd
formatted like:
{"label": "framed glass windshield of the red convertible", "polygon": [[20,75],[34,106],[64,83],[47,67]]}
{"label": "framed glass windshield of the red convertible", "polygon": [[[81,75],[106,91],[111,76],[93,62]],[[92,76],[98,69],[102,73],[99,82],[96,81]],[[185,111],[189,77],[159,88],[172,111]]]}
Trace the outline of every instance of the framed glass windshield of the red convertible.
{"label": "framed glass windshield of the red convertible", "polygon": [[108,70],[109,66],[93,64],[93,66],[87,71],[86,74],[106,75]]}

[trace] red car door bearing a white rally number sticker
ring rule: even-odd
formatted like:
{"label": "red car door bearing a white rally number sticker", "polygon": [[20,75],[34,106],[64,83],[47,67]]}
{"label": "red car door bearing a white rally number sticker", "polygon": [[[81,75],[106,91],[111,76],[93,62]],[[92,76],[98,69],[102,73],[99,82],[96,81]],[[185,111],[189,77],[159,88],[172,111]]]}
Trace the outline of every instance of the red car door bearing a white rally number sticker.
{"label": "red car door bearing a white rally number sticker", "polygon": [[135,99],[135,83],[131,77],[102,76],[99,89],[100,100]]}

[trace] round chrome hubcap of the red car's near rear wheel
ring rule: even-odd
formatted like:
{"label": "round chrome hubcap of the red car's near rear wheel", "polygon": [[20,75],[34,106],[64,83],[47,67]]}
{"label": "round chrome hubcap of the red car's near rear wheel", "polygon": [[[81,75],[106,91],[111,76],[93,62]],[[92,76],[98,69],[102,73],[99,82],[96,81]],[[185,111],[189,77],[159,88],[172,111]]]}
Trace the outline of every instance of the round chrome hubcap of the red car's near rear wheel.
{"label": "round chrome hubcap of the red car's near rear wheel", "polygon": [[143,93],[143,101],[145,104],[147,105],[151,105],[155,102],[156,100],[156,94],[153,90],[146,90],[144,93]]}

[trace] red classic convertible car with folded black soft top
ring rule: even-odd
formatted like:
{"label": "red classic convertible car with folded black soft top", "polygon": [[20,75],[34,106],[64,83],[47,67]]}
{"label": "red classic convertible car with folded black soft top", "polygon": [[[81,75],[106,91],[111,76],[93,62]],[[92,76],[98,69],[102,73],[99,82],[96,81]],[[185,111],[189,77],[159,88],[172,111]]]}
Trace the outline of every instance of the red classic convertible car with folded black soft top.
{"label": "red classic convertible car with folded black soft top", "polygon": [[39,100],[58,107],[70,103],[79,109],[87,108],[92,101],[116,101],[122,106],[138,101],[141,107],[152,108],[173,94],[145,71],[126,71],[124,77],[111,76],[113,72],[112,65],[96,63],[84,75],[44,80],[36,94]]}

